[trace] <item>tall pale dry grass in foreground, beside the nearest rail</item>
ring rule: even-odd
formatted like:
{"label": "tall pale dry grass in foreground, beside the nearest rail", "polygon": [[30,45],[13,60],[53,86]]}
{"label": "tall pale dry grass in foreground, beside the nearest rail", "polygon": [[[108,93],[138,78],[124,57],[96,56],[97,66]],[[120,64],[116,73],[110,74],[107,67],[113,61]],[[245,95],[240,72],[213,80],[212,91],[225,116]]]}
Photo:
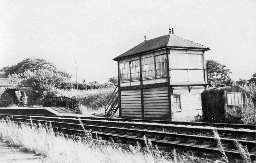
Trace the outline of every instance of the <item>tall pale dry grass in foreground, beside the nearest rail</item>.
{"label": "tall pale dry grass in foreground, beside the nearest rail", "polygon": [[[0,121],[0,140],[32,153],[41,155],[46,162],[213,162],[188,156],[176,150],[169,155],[160,151],[144,137],[146,147],[120,145],[92,139],[90,132],[84,130],[84,137],[67,137],[56,134],[51,126],[23,123],[18,125],[5,120]],[[215,160],[215,162],[219,162]]]}

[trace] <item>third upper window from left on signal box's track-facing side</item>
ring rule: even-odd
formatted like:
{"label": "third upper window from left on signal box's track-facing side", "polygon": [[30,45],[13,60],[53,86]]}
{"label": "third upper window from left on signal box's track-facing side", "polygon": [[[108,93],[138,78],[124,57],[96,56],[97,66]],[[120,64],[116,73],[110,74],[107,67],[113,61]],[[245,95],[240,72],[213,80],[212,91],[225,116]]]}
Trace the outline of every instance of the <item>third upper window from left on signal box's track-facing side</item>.
{"label": "third upper window from left on signal box's track-facing side", "polygon": [[141,59],[141,65],[143,78],[155,77],[155,65],[153,57]]}

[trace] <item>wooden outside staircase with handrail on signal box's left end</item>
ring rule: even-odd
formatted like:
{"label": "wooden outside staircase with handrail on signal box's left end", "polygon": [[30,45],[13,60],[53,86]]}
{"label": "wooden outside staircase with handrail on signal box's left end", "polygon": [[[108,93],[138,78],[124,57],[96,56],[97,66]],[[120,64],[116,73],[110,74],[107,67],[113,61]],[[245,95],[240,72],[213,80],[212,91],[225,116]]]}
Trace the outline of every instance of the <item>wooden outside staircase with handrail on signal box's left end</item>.
{"label": "wooden outside staircase with handrail on signal box's left end", "polygon": [[106,117],[111,114],[115,114],[119,109],[119,99],[118,99],[118,86],[116,86],[114,92],[110,96],[108,102],[105,105],[105,115]]}

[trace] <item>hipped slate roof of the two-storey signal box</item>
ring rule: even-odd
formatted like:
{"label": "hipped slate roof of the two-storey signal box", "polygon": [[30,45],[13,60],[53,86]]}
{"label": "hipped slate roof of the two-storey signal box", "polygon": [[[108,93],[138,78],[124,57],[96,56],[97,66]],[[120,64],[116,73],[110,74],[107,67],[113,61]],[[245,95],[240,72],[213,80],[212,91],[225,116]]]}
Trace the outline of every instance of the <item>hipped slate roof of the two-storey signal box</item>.
{"label": "hipped slate roof of the two-storey signal box", "polygon": [[139,53],[147,52],[154,49],[165,48],[165,47],[196,48],[196,49],[210,50],[210,48],[203,46],[201,44],[195,43],[193,41],[183,39],[174,34],[167,34],[164,36],[156,37],[154,39],[141,42],[139,45],[131,48],[130,50],[126,51],[120,56],[117,56],[113,60],[116,61],[118,59],[121,59],[127,56],[132,56]]}

